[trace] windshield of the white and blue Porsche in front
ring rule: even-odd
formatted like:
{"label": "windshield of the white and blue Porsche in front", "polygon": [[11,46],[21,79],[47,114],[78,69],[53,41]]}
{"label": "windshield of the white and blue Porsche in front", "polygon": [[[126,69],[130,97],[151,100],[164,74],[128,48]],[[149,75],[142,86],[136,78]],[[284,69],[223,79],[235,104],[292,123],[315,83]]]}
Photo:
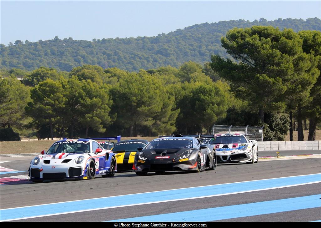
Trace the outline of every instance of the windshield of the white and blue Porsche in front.
{"label": "windshield of the white and blue Porsche in front", "polygon": [[66,141],[54,143],[48,150],[47,154],[58,153],[89,153],[89,142]]}

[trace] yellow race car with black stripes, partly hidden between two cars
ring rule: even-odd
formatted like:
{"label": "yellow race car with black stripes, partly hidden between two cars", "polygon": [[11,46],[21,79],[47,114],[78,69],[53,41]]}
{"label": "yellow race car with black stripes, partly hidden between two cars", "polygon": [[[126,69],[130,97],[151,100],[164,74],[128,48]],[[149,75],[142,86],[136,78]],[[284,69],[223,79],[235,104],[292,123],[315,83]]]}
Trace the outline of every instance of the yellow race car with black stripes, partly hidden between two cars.
{"label": "yellow race car with black stripes, partly hidden between two cars", "polygon": [[117,171],[132,170],[137,147],[145,147],[147,140],[131,139],[123,140],[115,144],[111,150],[116,156]]}

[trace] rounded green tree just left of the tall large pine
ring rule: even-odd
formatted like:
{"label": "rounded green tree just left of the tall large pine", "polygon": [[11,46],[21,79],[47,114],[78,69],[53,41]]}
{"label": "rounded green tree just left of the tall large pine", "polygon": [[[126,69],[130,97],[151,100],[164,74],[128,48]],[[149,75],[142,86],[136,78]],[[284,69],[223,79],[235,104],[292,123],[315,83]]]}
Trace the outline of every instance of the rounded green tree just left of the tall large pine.
{"label": "rounded green tree just left of the tall large pine", "polygon": [[228,89],[229,85],[221,81],[185,82],[182,85],[184,95],[177,104],[180,109],[178,131],[195,134],[205,129],[209,133],[214,123],[225,117],[226,110],[237,103]]}

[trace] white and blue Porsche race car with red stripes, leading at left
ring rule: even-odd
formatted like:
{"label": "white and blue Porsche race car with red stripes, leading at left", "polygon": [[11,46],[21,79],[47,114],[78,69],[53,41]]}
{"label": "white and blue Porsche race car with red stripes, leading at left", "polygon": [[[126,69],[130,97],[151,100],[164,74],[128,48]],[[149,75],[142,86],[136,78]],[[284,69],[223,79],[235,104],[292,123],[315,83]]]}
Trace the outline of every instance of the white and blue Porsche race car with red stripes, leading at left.
{"label": "white and blue Porsche race car with red stripes, leading at left", "polygon": [[104,149],[95,140],[64,139],[32,159],[29,175],[32,182],[40,183],[44,180],[114,176],[116,170],[113,151]]}

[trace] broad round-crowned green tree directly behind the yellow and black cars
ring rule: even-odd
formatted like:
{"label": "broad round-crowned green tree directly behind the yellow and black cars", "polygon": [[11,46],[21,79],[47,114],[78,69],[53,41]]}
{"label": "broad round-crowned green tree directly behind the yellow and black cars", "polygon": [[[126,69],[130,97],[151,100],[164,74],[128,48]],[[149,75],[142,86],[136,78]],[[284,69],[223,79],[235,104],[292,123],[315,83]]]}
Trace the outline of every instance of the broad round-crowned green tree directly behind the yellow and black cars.
{"label": "broad round-crowned green tree directly behind the yellow and black cars", "polygon": [[137,135],[143,128],[151,133],[168,133],[175,128],[178,111],[173,98],[169,97],[160,79],[146,71],[120,78],[112,88],[112,94],[113,112],[117,113],[115,124],[121,123],[130,136]]}

